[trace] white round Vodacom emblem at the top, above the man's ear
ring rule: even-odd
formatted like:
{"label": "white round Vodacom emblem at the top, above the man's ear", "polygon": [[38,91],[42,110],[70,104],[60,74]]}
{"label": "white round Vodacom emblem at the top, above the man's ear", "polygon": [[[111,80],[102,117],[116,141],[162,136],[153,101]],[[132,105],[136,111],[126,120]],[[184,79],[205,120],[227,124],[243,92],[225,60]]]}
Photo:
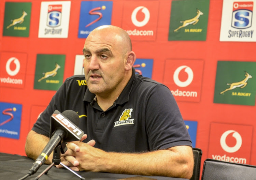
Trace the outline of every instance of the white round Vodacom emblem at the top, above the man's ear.
{"label": "white round Vodacom emblem at the top, above the man's ear", "polygon": [[[142,9],[142,10],[141,10]],[[142,21],[138,21],[136,16],[137,16],[137,13],[141,10],[141,12],[144,13],[145,15],[145,18],[142,20]],[[148,11],[148,9],[144,6],[139,6],[139,7],[136,7],[132,14],[131,14],[131,21],[132,23],[137,26],[137,27],[142,27],[142,26],[145,26],[147,24],[147,22],[149,21],[150,19],[150,12]]]}

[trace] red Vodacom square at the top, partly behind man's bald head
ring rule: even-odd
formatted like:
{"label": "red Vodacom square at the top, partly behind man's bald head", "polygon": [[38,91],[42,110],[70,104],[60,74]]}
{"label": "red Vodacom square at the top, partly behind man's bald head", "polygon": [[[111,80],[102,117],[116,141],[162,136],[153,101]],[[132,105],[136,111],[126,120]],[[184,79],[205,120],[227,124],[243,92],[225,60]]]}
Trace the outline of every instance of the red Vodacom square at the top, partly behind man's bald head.
{"label": "red Vodacom square at the top, partly behind man's bald head", "polygon": [[132,41],[154,41],[159,1],[125,1],[122,28]]}

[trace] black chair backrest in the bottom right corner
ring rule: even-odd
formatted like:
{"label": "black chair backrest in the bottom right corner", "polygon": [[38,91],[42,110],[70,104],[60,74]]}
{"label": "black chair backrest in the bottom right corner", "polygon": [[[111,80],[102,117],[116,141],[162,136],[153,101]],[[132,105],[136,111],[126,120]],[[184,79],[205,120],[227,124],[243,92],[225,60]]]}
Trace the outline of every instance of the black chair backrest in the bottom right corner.
{"label": "black chair backrest in the bottom right corner", "polygon": [[255,180],[256,166],[206,159],[201,180]]}

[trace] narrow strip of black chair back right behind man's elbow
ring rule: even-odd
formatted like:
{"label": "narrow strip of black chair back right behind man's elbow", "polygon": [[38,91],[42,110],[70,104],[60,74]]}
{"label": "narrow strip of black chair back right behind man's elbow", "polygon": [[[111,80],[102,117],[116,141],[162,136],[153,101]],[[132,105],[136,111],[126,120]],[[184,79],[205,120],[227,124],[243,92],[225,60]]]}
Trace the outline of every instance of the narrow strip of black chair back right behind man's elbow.
{"label": "narrow strip of black chair back right behind man's elbow", "polygon": [[194,170],[190,180],[199,180],[202,150],[199,148],[193,148],[193,155],[194,155]]}

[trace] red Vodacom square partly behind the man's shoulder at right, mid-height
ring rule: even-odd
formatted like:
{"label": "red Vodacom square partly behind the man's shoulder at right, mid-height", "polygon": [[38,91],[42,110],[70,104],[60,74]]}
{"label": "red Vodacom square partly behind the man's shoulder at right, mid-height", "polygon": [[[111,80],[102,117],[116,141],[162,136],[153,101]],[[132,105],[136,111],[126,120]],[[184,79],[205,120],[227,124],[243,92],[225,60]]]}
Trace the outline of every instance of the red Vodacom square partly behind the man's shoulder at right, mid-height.
{"label": "red Vodacom square partly behind the man's shoulder at right, mid-height", "polygon": [[163,84],[172,92],[176,101],[199,102],[203,60],[167,59]]}

